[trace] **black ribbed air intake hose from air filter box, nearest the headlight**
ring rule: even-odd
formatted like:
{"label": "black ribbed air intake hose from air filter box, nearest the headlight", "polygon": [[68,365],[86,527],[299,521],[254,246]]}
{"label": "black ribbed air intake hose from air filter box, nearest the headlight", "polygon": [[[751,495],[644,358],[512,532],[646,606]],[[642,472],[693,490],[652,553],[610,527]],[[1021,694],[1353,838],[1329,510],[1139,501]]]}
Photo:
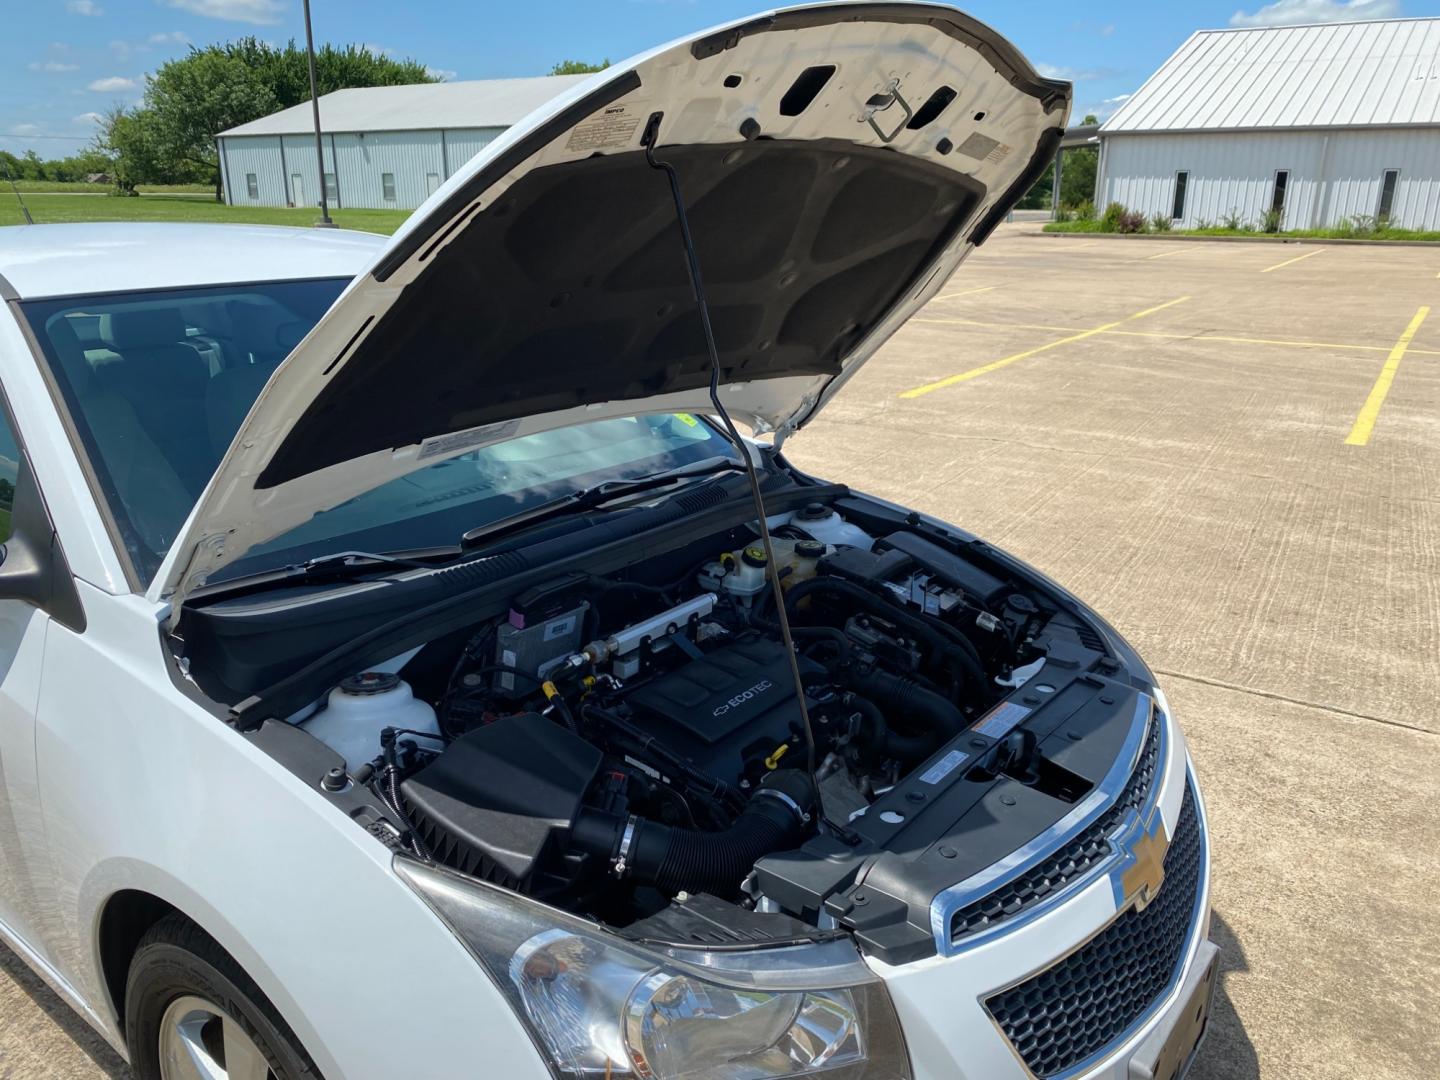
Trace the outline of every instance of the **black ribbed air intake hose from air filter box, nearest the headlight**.
{"label": "black ribbed air intake hose from air filter box, nearest the headlight", "polygon": [[740,816],[720,832],[582,811],[570,840],[606,858],[621,877],[665,893],[734,896],[757,858],[799,845],[814,805],[809,778],[799,769],[782,769],[766,773]]}

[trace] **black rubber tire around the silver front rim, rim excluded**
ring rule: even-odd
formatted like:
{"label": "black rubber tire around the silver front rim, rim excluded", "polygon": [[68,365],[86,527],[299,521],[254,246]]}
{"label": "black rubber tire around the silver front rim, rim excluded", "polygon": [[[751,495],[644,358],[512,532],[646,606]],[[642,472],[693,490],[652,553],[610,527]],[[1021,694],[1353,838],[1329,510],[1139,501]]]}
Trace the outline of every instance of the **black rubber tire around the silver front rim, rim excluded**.
{"label": "black rubber tire around the silver front rim, rim excluded", "polygon": [[[310,1058],[259,988],[219,945],[197,930],[194,935],[196,940],[186,943],[148,940],[131,962],[125,1041],[135,1076],[160,1080],[160,1021],[171,1002],[194,995],[239,1024],[279,1080],[318,1080]],[[196,945],[202,949],[193,950]]]}

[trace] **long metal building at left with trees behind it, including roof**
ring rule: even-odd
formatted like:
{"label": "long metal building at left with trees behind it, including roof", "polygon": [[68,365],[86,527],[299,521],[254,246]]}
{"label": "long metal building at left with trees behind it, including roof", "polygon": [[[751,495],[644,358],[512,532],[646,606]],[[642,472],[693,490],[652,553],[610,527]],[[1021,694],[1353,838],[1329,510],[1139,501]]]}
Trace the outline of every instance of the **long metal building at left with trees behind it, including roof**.
{"label": "long metal building at left with trees behind it, including roof", "polygon": [[[331,207],[413,210],[495,135],[585,75],[367,86],[320,99]],[[310,102],[216,135],[225,200],[318,206]]]}

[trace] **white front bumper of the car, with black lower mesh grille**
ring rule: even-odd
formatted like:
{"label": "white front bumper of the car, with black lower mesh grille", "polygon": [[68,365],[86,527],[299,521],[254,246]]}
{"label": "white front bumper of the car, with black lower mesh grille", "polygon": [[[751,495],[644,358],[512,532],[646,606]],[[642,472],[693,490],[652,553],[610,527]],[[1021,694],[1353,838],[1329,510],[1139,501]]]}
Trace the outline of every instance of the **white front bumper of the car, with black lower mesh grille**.
{"label": "white front bumper of the car, with black lower mesh grille", "polygon": [[[873,963],[900,1015],[916,1080],[1172,1080],[1188,1068],[1195,1038],[1204,1034],[1195,1011],[1202,1014],[1208,1001],[1217,949],[1208,940],[1204,801],[1184,736],[1172,719],[1165,723],[1156,806],[1176,858],[1187,854],[1181,848],[1189,834],[1188,851],[1197,865],[1182,874],[1172,873],[1166,861],[1166,881],[1145,912],[1133,910],[1133,896],[1125,899],[1122,868],[1115,868],[1014,930],[986,936],[950,956],[894,968]],[[1182,920],[1172,927],[1182,940],[1175,939],[1156,960],[1155,935],[1128,935],[1128,929],[1148,920],[1153,930],[1159,919]],[[1126,939],[1122,952],[1130,949],[1119,960],[1117,939]],[[1136,963],[1135,949],[1151,952]],[[1087,966],[1087,960],[1093,963]],[[1155,971],[1156,962],[1164,969]],[[1083,979],[1093,979],[1093,985],[1077,985]],[[1119,1011],[1106,1014],[1106,996],[1129,992],[1133,998],[1142,982],[1143,1001],[1132,1002],[1117,1024]],[[1064,1009],[1070,1009],[1064,1022],[1048,1022]],[[1086,1041],[1094,1031],[1103,1031],[1102,1040]],[[1060,1045],[1077,1032],[1076,1047]],[[1178,1050],[1181,1043],[1185,1045]]]}

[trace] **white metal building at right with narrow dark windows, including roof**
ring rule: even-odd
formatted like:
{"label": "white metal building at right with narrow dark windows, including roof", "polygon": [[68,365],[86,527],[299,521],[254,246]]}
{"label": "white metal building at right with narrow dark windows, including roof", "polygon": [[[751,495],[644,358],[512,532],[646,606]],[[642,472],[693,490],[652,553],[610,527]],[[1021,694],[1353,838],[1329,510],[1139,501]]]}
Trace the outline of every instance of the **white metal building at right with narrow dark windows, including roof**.
{"label": "white metal building at right with narrow dark windows, including roof", "polygon": [[1100,128],[1099,206],[1440,229],[1440,19],[1201,30]]}

